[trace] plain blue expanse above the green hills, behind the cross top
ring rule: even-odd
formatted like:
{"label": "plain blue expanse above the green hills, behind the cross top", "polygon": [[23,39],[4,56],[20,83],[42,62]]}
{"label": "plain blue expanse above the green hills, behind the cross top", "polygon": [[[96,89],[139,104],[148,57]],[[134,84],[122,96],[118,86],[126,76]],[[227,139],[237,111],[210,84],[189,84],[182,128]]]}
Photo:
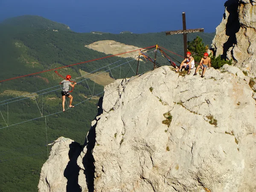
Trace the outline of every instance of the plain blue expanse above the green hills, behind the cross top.
{"label": "plain blue expanse above the green hills, behind the cross top", "polygon": [[0,0],[0,21],[39,15],[64,23],[75,32],[163,32],[187,29],[215,32],[227,0]]}

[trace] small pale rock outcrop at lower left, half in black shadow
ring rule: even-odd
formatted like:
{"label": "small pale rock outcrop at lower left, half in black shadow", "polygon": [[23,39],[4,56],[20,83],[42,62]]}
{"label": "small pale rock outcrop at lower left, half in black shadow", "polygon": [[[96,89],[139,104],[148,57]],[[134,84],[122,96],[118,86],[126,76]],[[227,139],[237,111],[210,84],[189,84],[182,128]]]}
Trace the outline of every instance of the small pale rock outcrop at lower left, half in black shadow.
{"label": "small pale rock outcrop at lower left, half in black shadow", "polygon": [[52,144],[49,158],[41,169],[38,192],[81,191],[78,184],[80,168],[77,165],[80,144],[64,137]]}

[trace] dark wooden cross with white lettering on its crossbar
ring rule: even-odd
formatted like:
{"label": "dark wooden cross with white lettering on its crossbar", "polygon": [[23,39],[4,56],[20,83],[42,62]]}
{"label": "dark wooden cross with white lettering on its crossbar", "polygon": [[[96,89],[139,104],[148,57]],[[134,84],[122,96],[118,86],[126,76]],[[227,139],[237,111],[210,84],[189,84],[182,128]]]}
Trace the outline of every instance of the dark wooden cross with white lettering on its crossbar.
{"label": "dark wooden cross with white lettering on its crossbar", "polygon": [[188,33],[204,32],[204,28],[199,28],[199,29],[186,29],[186,15],[185,15],[185,12],[182,12],[182,21],[183,21],[183,30],[167,31],[167,32],[166,32],[166,35],[183,34],[184,58],[186,58],[186,52],[187,52],[187,38],[186,38],[186,35],[187,35]]}

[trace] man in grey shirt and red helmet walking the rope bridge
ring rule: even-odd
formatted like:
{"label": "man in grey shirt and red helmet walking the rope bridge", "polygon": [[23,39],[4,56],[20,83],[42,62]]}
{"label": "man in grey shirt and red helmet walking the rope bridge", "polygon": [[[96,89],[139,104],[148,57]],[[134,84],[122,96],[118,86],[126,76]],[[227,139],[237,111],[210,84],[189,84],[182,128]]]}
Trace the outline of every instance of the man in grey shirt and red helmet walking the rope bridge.
{"label": "man in grey shirt and red helmet walking the rope bridge", "polygon": [[71,79],[71,76],[67,75],[66,79],[60,82],[60,84],[63,84],[63,90],[61,91],[63,112],[65,112],[65,99],[66,99],[66,97],[70,98],[69,107],[70,108],[75,107],[74,105],[72,105],[73,96],[70,95],[69,86],[75,87],[76,82],[74,84],[72,84],[70,82],[70,79]]}

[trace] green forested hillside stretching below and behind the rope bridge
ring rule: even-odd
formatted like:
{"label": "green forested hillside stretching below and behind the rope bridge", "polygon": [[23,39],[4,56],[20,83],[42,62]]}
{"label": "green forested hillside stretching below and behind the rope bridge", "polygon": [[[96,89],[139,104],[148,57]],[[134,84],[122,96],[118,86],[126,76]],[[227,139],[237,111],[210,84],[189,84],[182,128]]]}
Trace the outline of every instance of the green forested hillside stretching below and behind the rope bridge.
{"label": "green forested hillside stretching below and behind the rope bridge", "polygon": [[[166,36],[165,32],[76,33],[67,25],[30,15],[5,20],[0,23],[0,29],[0,192],[38,191],[41,167],[51,150],[47,144],[58,137],[84,145],[91,121],[97,115],[99,97],[104,95],[104,86],[81,76],[80,70],[94,74],[106,72],[113,79],[135,75],[134,58],[113,56],[84,62],[110,56],[85,45],[102,40],[142,48],[158,44],[175,53],[166,52],[173,61],[183,60],[177,56],[183,55],[183,36]],[[214,35],[191,33],[188,41],[199,36],[210,46]],[[154,52],[148,55],[154,58]],[[157,63],[170,65],[159,53]],[[72,66],[65,67],[68,65]],[[59,74],[70,74],[78,82],[72,95],[73,104],[79,105],[65,113],[62,113],[59,85],[63,79],[52,70],[58,67],[63,67]],[[152,69],[153,64],[144,60],[139,73]],[[45,70],[48,71],[38,73]],[[38,74],[12,79],[32,73]],[[6,79],[11,80],[3,81]]]}

